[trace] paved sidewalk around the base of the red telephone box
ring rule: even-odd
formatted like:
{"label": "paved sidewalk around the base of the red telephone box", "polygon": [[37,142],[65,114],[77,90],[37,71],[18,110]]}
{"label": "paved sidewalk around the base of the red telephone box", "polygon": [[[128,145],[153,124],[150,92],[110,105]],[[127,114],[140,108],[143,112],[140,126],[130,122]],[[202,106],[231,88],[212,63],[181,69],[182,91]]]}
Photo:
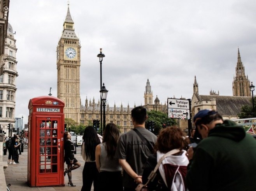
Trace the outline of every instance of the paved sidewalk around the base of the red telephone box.
{"label": "paved sidewalk around the base of the red telephone box", "polygon": [[[28,172],[28,150],[24,148],[24,152],[19,155],[19,164],[8,164],[5,170],[6,184],[11,184],[11,191],[80,191],[82,188],[82,170],[84,169],[84,160],[81,157],[81,147],[77,147],[75,158],[81,163],[81,167],[72,171],[72,182],[76,186],[68,186],[68,176],[65,176],[65,186],[49,186],[49,187],[29,187],[27,184]],[[3,156],[3,162],[8,162],[7,155]],[[67,165],[64,165],[67,168]],[[93,186],[92,189],[93,190]]]}

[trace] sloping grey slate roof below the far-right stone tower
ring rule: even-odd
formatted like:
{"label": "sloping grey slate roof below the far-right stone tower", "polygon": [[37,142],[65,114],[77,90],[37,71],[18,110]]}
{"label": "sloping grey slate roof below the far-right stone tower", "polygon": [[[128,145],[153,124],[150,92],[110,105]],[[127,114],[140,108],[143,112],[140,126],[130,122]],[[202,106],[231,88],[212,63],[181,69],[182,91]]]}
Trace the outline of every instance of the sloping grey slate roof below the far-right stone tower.
{"label": "sloping grey slate roof below the far-right stone tower", "polygon": [[223,116],[237,116],[243,105],[251,105],[251,97],[199,95],[200,101],[216,98],[216,109]]}

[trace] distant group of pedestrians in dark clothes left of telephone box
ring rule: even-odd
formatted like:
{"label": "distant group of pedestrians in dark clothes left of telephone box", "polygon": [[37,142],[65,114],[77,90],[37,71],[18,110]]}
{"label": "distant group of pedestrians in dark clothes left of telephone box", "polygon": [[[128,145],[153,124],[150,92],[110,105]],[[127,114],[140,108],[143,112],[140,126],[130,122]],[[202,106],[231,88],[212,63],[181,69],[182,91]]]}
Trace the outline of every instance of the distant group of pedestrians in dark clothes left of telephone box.
{"label": "distant group of pedestrians in dark clothes left of telephone box", "polygon": [[28,146],[28,139],[18,134],[13,136],[5,137],[3,141],[3,151],[4,155],[7,155],[8,151],[8,163],[9,164],[18,164],[19,155],[21,155],[21,146]]}

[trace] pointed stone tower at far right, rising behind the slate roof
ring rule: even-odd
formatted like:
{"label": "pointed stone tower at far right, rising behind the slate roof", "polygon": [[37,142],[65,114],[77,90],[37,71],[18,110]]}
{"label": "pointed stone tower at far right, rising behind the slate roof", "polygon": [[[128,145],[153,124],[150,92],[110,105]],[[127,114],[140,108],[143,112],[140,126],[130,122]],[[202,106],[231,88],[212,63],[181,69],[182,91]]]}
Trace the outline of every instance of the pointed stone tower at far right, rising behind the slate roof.
{"label": "pointed stone tower at far right, rising behind the slate roof", "polygon": [[250,81],[248,76],[245,76],[244,65],[242,63],[238,48],[237,66],[235,68],[236,75],[234,76],[233,96],[251,96]]}

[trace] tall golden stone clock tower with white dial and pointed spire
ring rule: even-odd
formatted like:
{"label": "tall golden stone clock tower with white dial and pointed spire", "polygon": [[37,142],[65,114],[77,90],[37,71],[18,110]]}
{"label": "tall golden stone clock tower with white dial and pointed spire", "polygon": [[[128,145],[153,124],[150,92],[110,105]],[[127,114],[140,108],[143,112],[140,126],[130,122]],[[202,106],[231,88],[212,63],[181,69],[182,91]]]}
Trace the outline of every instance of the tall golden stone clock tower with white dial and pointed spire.
{"label": "tall golden stone clock tower with white dial and pointed spire", "polygon": [[80,120],[80,43],[75,34],[74,21],[69,7],[58,42],[57,56],[57,97],[65,102],[65,118]]}

